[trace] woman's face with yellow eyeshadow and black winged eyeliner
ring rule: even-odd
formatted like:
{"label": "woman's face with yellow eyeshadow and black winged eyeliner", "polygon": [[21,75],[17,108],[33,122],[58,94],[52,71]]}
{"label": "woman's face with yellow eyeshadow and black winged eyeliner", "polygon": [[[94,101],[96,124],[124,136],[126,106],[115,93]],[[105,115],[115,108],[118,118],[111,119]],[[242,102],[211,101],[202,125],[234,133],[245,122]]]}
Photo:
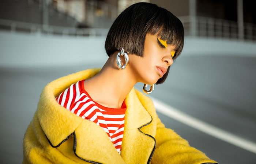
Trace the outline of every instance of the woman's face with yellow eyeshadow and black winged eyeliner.
{"label": "woman's face with yellow eyeshadow and black winged eyeliner", "polygon": [[166,44],[160,37],[151,34],[146,35],[144,56],[129,55],[129,65],[132,73],[139,82],[154,84],[167,71],[173,63],[175,47]]}

